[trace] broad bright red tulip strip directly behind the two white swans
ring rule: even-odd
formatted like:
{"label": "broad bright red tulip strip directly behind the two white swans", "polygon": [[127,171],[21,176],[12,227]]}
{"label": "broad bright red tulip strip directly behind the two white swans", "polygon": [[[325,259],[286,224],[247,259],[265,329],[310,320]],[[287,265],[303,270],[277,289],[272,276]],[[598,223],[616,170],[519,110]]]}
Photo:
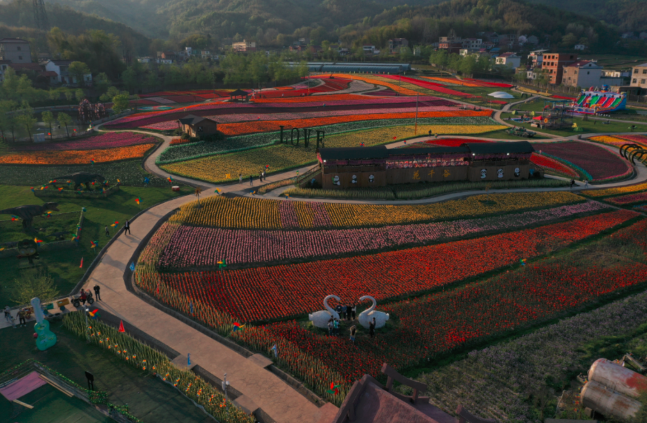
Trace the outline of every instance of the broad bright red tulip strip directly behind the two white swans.
{"label": "broad bright red tulip strip directly behind the two white swans", "polygon": [[[356,301],[362,295],[387,299],[440,287],[566,247],[636,215],[618,210],[526,231],[369,256],[159,277],[170,288],[202,299],[218,312],[254,322],[319,310],[331,292],[342,301]],[[143,283],[152,288],[157,282]]]}

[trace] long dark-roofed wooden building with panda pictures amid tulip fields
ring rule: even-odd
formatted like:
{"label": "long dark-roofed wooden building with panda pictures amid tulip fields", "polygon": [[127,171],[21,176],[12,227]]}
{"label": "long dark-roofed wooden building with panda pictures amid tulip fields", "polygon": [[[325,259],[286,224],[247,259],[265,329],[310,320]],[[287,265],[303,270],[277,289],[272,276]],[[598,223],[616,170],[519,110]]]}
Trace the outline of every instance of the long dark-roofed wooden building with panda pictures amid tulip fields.
{"label": "long dark-roofed wooden building with panda pictures amid tulip fields", "polygon": [[527,179],[534,149],[527,141],[466,142],[458,147],[321,148],[323,188],[442,181]]}

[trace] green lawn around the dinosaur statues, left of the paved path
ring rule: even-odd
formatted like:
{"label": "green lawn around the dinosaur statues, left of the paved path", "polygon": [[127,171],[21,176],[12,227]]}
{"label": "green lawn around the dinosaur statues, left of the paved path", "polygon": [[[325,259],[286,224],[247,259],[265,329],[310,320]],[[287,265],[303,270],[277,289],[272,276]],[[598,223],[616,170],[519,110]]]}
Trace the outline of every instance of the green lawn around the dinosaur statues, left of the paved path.
{"label": "green lawn around the dinosaur statues, left of the paved path", "polygon": [[[79,282],[81,276],[95,258],[97,249],[90,248],[90,241],[99,240],[99,249],[104,247],[109,240],[109,237],[105,235],[104,227],[109,226],[112,236],[114,229],[110,227],[110,224],[115,220],[121,224],[140,211],[139,206],[135,203],[136,197],[141,197],[142,208],[147,208],[167,199],[191,192],[193,192],[192,188],[185,186],[182,186],[180,192],[173,192],[170,187],[141,188],[122,186],[118,192],[106,199],[61,199],[58,201],[58,210],[61,210],[61,213],[79,211],[81,207],[86,208],[79,247],[40,253],[40,260],[35,262],[38,263],[37,269],[51,274],[59,292],[61,295],[65,295]],[[44,202],[34,197],[29,187],[0,185],[0,210],[26,204],[43,204]],[[10,216],[0,215],[0,219],[10,219]],[[83,268],[79,268],[81,258],[83,258]],[[14,297],[15,280],[20,280],[33,272],[33,269],[18,269],[17,264],[17,258],[0,258],[0,266],[3,269],[3,274],[0,276],[1,306],[15,305],[11,301]]]}

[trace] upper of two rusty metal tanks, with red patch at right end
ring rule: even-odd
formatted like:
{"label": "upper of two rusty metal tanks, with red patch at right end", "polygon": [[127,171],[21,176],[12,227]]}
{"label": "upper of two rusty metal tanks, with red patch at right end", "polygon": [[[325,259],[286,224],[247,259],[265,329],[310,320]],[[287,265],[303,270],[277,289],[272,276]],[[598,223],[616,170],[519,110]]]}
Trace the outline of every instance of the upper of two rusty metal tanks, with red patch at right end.
{"label": "upper of two rusty metal tanks, with red patch at right end", "polygon": [[589,369],[589,381],[602,383],[607,388],[628,397],[637,398],[641,391],[647,390],[647,377],[613,363],[606,358],[598,358]]}

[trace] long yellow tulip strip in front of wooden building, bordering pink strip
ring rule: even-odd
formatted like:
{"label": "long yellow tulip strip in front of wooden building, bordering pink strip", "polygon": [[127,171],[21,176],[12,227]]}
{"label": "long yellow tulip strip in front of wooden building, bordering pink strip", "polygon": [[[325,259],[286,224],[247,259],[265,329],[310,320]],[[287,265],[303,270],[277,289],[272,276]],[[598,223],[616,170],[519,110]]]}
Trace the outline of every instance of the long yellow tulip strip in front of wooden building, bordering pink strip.
{"label": "long yellow tulip strip in front of wooden building, bordering pink strip", "polygon": [[[494,206],[481,201],[490,199]],[[410,224],[441,219],[459,219],[483,215],[511,213],[518,210],[544,208],[582,201],[570,192],[514,192],[509,194],[477,195],[468,199],[445,201],[436,204],[402,206],[373,204],[307,203],[291,201],[299,225],[356,227]],[[283,201],[237,197],[209,197],[202,199],[202,208],[195,202],[185,204],[170,219],[170,223],[198,224],[232,229],[282,229],[280,206]],[[323,218],[322,218],[323,213]],[[314,224],[314,222],[330,222]]]}

